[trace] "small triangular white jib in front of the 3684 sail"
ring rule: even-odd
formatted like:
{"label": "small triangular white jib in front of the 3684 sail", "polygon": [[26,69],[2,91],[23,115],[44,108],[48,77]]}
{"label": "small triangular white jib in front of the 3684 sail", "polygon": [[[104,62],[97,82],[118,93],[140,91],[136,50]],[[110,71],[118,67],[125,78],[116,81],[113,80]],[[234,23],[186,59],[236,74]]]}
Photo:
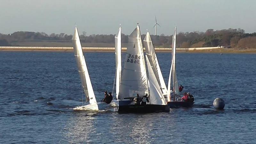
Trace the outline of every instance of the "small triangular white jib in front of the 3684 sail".
{"label": "small triangular white jib in front of the 3684 sail", "polygon": [[163,93],[157,82],[156,75],[153,71],[153,66],[151,66],[149,62],[148,55],[146,55],[146,60],[147,60],[147,66],[148,66],[148,81],[150,84],[150,87],[149,87],[150,104],[166,105]]}

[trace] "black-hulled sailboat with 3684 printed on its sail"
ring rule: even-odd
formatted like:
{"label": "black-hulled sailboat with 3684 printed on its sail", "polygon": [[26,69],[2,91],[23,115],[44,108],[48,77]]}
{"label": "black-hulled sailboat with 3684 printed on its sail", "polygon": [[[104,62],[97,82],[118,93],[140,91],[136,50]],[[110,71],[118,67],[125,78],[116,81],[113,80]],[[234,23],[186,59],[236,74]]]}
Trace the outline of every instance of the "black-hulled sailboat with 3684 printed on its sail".
{"label": "black-hulled sailboat with 3684 printed on its sail", "polygon": [[[140,36],[140,27],[138,25],[128,38],[124,69],[117,96],[119,100],[119,113],[170,111],[147,56],[146,60],[148,76]],[[150,85],[150,87],[148,87],[148,85]],[[140,97],[149,94],[149,102],[146,105],[134,105],[133,98],[136,97],[137,94],[139,94]]]}

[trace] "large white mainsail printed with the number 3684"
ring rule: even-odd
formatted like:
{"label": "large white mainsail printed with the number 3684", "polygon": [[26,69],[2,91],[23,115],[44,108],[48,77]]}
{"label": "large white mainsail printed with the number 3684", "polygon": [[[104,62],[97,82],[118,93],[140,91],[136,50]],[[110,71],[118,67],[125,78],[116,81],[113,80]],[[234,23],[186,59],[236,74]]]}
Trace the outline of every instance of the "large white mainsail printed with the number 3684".
{"label": "large white mainsail printed with the number 3684", "polygon": [[128,38],[118,99],[135,97],[137,93],[139,95],[148,93],[148,80],[139,26]]}

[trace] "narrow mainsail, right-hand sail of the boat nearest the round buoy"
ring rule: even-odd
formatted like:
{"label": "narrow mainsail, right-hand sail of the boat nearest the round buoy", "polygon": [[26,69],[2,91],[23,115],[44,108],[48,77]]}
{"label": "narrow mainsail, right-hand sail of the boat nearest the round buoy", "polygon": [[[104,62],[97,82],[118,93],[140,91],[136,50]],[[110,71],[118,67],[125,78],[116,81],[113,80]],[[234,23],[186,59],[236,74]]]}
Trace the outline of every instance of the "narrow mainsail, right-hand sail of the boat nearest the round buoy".
{"label": "narrow mainsail, right-hand sail of the boat nearest the round buoy", "polygon": [[172,84],[174,88],[174,93],[180,95],[179,84],[176,74],[176,27],[174,35],[172,36]]}

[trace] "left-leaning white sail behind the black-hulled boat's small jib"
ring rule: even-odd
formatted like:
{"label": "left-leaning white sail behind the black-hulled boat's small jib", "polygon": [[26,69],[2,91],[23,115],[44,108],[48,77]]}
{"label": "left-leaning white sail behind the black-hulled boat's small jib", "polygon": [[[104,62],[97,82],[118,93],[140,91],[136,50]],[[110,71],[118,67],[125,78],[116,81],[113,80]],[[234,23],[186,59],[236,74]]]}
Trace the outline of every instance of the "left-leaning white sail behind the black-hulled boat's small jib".
{"label": "left-leaning white sail behind the black-hulled boat's small jib", "polygon": [[144,45],[146,48],[146,54],[148,56],[148,60],[150,62],[150,65],[152,66],[152,69],[154,71],[154,74],[156,76],[156,80],[158,85],[160,86],[162,92],[164,95],[167,95],[167,88],[166,85],[164,83],[164,78],[161,72],[161,69],[159,67],[159,63],[156,57],[156,52],[155,52],[155,48],[153,46],[151,37],[149,35],[149,32],[147,32],[145,38],[144,38]]}

